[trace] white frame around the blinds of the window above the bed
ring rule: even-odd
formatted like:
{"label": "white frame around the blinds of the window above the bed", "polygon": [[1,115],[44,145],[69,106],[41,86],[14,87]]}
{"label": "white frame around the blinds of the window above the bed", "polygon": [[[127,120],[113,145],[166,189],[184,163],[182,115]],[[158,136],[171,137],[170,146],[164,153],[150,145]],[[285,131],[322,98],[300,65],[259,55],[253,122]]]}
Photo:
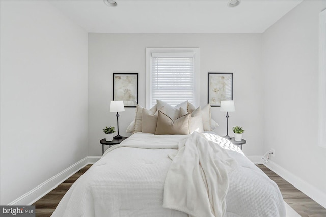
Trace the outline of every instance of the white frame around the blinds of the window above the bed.
{"label": "white frame around the blinds of the window above the bed", "polygon": [[146,48],[146,107],[150,108],[152,98],[152,53],[180,53],[193,52],[194,55],[194,106],[199,105],[199,83],[200,83],[200,68],[199,68],[199,48]]}

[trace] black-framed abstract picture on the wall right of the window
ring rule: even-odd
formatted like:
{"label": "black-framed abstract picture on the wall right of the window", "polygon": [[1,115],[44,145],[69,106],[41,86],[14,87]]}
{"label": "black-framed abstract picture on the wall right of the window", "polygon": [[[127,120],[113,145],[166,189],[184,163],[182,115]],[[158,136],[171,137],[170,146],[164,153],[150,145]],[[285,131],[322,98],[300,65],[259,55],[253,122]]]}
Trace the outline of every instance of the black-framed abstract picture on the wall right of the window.
{"label": "black-framed abstract picture on the wall right of the window", "polygon": [[233,73],[208,73],[208,103],[220,107],[222,100],[233,100]]}

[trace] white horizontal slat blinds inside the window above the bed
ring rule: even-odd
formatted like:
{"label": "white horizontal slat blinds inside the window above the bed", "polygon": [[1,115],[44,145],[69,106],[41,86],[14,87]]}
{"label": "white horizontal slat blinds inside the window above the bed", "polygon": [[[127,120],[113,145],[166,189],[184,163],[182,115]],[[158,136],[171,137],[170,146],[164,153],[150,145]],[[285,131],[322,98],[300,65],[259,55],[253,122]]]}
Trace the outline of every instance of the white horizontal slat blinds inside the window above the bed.
{"label": "white horizontal slat blinds inside the window above the bed", "polygon": [[195,102],[195,70],[193,52],[151,53],[151,99],[163,100],[171,106],[188,100]]}

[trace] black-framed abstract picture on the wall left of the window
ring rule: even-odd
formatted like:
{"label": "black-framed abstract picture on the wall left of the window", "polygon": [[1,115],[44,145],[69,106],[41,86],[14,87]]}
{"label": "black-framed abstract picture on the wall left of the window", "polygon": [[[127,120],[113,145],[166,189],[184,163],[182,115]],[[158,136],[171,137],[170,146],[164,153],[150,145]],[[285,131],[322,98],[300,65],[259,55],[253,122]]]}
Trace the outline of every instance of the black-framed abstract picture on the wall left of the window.
{"label": "black-framed abstract picture on the wall left of the window", "polygon": [[113,100],[123,100],[124,107],[136,107],[138,73],[113,73]]}

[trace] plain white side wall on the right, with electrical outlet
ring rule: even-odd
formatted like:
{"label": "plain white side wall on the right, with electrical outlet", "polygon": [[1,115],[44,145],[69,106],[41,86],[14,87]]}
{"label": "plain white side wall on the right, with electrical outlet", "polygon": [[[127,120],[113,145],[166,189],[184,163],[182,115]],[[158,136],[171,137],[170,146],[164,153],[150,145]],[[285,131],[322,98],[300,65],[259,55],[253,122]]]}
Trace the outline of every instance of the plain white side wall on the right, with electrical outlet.
{"label": "plain white side wall on the right, with electrical outlet", "polygon": [[[326,1],[303,1],[263,34],[265,151],[320,192],[326,206],[326,149],[318,146],[318,15]],[[295,185],[295,183],[292,183]]]}

